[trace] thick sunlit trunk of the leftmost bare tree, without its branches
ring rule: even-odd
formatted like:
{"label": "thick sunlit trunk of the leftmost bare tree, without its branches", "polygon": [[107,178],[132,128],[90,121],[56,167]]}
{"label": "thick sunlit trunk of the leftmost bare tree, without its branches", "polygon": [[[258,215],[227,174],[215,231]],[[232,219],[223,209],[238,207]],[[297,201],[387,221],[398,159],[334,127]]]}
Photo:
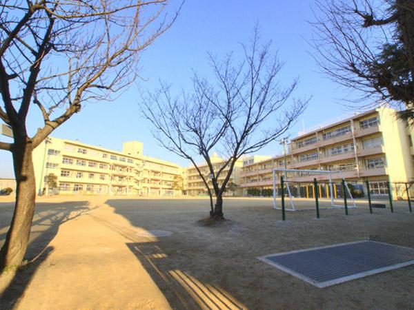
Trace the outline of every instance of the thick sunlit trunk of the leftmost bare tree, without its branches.
{"label": "thick sunlit trunk of the leftmost bare tree, without its branches", "polygon": [[32,151],[32,143],[27,137],[14,138],[12,154],[17,183],[16,202],[6,242],[0,250],[0,271],[6,267],[19,267],[28,247],[36,198]]}

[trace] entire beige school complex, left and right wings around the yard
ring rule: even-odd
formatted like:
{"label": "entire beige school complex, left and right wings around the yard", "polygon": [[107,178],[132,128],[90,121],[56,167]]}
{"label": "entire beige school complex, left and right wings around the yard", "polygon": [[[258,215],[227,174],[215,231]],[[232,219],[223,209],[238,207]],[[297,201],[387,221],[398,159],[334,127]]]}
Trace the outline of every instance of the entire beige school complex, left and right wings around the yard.
{"label": "entire beige school complex, left and right wings around the yard", "polygon": [[[273,188],[273,168],[325,170],[335,181],[367,181],[371,194],[388,194],[387,182],[414,180],[413,127],[396,118],[395,110],[378,108],[355,114],[291,139],[286,154],[252,155],[237,161],[226,192],[247,196],[248,189]],[[213,154],[213,165],[224,159]],[[39,194],[116,194],[141,196],[206,195],[193,166],[144,156],[139,141],[123,143],[121,152],[79,141],[49,137],[34,150]],[[199,165],[208,182],[209,169]],[[224,179],[224,169],[219,181]],[[48,188],[48,176],[57,187]],[[290,181],[311,182],[314,176],[294,175]],[[328,178],[318,175],[318,180]],[[277,185],[279,179],[277,179]]]}

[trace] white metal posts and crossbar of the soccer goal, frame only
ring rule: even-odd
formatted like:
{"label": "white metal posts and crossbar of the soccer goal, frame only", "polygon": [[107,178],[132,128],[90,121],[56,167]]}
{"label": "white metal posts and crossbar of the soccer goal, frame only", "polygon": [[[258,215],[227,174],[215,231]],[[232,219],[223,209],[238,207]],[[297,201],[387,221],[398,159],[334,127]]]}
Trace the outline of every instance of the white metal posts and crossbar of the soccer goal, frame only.
{"label": "white metal posts and crossbar of the soccer goal, frame only", "polygon": [[[351,191],[348,188],[348,183],[346,183],[345,178],[343,177],[342,171],[328,171],[328,170],[306,170],[306,169],[283,169],[283,168],[273,168],[273,208],[275,209],[282,209],[281,207],[277,207],[276,203],[276,196],[277,196],[277,190],[276,190],[276,172],[282,172],[284,174],[284,184],[286,184],[286,189],[289,195],[290,199],[290,206],[291,208],[286,208],[286,210],[290,211],[296,211],[295,203],[293,203],[293,196],[292,192],[290,191],[289,186],[289,178],[288,178],[288,172],[297,172],[297,173],[308,173],[309,175],[320,175],[320,174],[327,174],[328,175],[328,184],[329,184],[329,192],[331,193],[331,208],[344,208],[344,205],[335,205],[335,199],[333,195],[333,182],[332,182],[332,174],[340,174],[342,175],[342,180],[344,180],[345,189],[348,193],[349,197],[351,197],[352,205],[350,207],[355,208],[355,200],[351,194]],[[310,183],[313,183],[310,182]],[[346,195],[346,193],[344,193]]]}

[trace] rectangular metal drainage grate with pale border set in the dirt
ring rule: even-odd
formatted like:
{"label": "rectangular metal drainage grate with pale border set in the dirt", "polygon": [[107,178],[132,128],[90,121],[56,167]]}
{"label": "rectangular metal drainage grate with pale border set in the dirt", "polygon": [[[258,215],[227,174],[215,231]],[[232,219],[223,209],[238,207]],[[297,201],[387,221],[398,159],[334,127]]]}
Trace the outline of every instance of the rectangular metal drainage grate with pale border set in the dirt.
{"label": "rectangular metal drainage grate with pale border set in the dirt", "polygon": [[414,249],[365,240],[259,257],[316,287],[414,264]]}

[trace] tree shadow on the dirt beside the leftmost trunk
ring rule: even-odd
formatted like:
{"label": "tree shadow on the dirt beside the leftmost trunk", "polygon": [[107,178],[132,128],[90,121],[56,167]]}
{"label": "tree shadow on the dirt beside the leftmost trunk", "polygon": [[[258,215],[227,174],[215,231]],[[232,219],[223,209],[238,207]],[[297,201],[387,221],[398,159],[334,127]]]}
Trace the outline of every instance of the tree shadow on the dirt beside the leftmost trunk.
{"label": "tree shadow on the dirt beside the leftmost trunk", "polygon": [[[34,273],[53,251],[49,243],[57,235],[60,225],[90,211],[88,204],[88,201],[37,204],[25,264],[17,270],[8,287],[0,292],[0,309],[17,306]],[[5,236],[1,235],[1,243]]]}

